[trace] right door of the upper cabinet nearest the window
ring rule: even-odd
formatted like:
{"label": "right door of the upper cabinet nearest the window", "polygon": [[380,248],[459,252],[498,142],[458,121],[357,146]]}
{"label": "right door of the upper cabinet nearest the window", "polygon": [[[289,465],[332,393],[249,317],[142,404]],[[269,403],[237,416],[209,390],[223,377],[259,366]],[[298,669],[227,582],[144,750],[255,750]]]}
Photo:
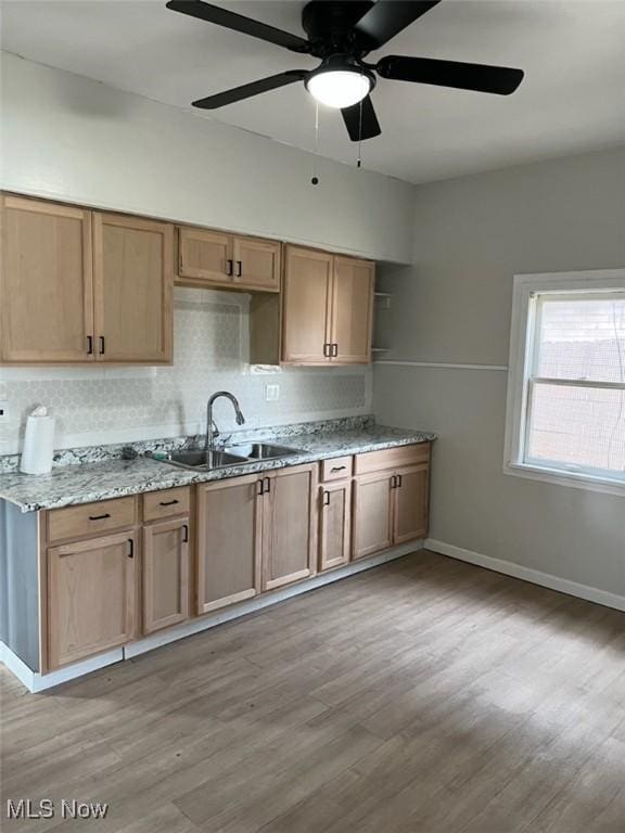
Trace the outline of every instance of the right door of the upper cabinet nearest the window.
{"label": "right door of the upper cabinet nearest the window", "polygon": [[335,364],[371,361],[371,329],[375,267],[368,260],[334,258],[332,326]]}

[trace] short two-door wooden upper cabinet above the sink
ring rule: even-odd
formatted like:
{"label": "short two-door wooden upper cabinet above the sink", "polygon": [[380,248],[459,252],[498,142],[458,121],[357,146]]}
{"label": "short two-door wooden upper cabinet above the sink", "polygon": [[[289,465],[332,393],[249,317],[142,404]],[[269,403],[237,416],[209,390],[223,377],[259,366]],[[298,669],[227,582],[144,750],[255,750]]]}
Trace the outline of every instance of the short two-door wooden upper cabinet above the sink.
{"label": "short two-door wooden upper cabinet above the sink", "polygon": [[177,283],[279,292],[281,243],[188,226],[178,229]]}

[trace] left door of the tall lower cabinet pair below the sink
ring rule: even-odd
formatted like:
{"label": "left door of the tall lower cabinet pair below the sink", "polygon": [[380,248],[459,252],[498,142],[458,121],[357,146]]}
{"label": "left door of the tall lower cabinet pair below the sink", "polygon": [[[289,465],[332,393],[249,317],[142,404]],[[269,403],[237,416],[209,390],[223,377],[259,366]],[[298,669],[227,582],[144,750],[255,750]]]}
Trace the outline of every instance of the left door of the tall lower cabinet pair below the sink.
{"label": "left door of the tall lower cabinet pair below the sink", "polygon": [[262,482],[256,475],[197,487],[197,613],[256,595]]}

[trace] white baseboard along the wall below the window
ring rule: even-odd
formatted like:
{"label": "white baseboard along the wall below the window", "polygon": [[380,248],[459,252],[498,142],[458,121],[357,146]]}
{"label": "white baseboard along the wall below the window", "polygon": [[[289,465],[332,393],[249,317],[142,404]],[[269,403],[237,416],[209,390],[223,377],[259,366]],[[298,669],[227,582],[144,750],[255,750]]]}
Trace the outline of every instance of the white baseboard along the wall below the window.
{"label": "white baseboard along the wall below the window", "polygon": [[540,587],[548,587],[550,590],[558,590],[567,595],[585,599],[587,602],[602,604],[604,607],[625,611],[625,597],[611,593],[608,590],[599,590],[596,587],[581,585],[577,581],[570,581],[567,578],[560,578],[550,573],[541,573],[539,569],[524,567],[512,561],[503,561],[502,559],[493,559],[490,555],[482,555],[479,552],[464,550],[462,547],[456,547],[454,543],[437,541],[435,538],[426,538],[424,547],[426,550],[432,550],[432,552],[449,555],[451,559],[465,561],[469,564],[475,564],[479,567],[486,567],[486,569],[493,569],[495,573],[503,573],[506,576],[520,578],[523,581],[530,581],[533,585],[540,585]]}

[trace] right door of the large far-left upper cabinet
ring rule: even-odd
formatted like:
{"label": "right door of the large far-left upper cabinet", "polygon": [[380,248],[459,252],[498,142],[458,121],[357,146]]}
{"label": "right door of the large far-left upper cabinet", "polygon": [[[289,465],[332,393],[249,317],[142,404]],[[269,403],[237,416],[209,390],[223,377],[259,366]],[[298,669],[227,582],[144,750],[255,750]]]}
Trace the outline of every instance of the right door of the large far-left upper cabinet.
{"label": "right door of the large far-left upper cabinet", "polygon": [[93,281],[97,359],[171,362],[174,227],[94,214]]}

